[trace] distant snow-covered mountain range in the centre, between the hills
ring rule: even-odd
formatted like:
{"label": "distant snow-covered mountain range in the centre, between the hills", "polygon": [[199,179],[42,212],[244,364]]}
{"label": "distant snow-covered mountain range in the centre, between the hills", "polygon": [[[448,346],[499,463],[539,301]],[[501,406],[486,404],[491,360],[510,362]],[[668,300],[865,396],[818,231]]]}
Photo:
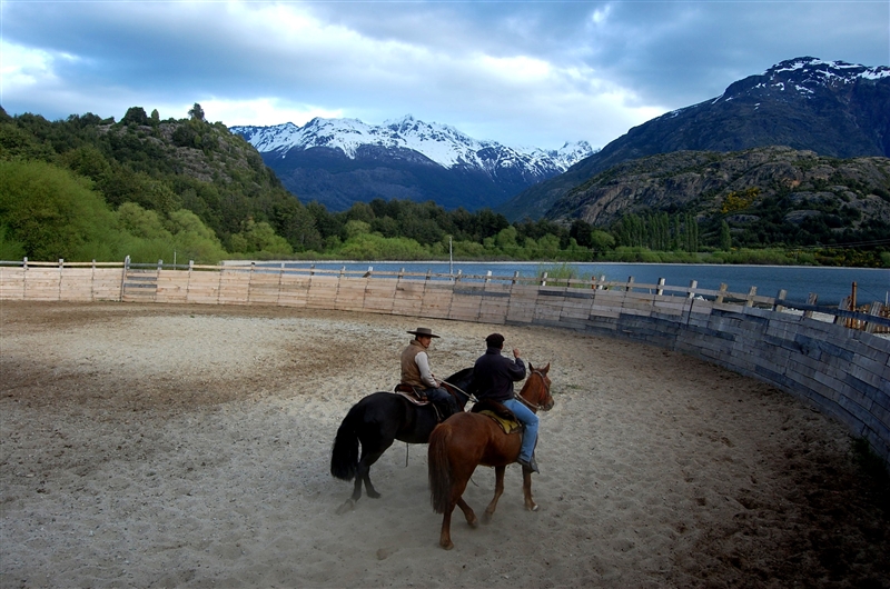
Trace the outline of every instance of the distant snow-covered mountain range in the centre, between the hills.
{"label": "distant snow-covered mountain range in the centre, between the hills", "polygon": [[[333,210],[374,198],[494,207],[594,153],[586,141],[558,150],[511,148],[411,116],[382,126],[316,118],[303,127],[233,127],[303,201]],[[388,170],[388,172],[386,171]]]}

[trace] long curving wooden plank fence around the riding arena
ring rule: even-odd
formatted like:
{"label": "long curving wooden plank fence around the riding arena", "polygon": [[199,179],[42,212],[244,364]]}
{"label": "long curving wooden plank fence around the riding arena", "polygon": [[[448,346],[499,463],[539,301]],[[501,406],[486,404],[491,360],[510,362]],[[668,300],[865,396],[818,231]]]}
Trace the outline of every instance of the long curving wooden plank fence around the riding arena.
{"label": "long curving wooden plank fence around the riding arena", "polygon": [[[313,267],[0,262],[0,300],[266,305],[543,325],[676,350],[770,382],[867,439],[890,463],[890,327],[868,312],[751,288],[320,270]],[[827,320],[825,320],[827,319]],[[861,327],[862,330],[851,329]]]}

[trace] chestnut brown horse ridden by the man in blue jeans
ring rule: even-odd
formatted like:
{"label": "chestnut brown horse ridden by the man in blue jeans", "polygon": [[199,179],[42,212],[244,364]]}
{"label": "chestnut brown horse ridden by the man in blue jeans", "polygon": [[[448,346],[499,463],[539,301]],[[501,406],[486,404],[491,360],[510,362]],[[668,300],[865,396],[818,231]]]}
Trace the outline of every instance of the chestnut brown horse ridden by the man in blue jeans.
{"label": "chestnut brown horse ridden by the man in blue jeans", "polygon": [[[517,399],[534,412],[538,409],[550,411],[553,408],[551,381],[547,377],[550,365],[535,370],[530,362],[528,369],[531,373]],[[488,523],[497,508],[497,500],[504,492],[504,471],[507,465],[515,462],[520,457],[522,432],[517,430],[504,433],[494,419],[475,412],[477,409],[478,407],[474,407],[472,413],[449,417],[429,436],[429,498],[436,513],[442,513],[442,535],[438,543],[446,550],[454,548],[451,523],[455,505],[464,512],[466,522],[471,527],[478,526],[476,513],[462,497],[476,467],[478,465],[494,467],[494,498],[483,515],[483,521]],[[522,479],[525,509],[537,511],[537,505],[532,500],[532,470],[523,467]]]}

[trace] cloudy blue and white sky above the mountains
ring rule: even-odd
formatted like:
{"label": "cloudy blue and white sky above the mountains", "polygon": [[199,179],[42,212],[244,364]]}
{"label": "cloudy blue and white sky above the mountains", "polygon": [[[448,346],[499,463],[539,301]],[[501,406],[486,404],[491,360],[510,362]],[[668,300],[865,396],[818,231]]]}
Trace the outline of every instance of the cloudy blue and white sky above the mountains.
{"label": "cloudy blue and white sky above the mountains", "polygon": [[888,0],[0,0],[0,104],[602,147],[795,57],[890,66]]}

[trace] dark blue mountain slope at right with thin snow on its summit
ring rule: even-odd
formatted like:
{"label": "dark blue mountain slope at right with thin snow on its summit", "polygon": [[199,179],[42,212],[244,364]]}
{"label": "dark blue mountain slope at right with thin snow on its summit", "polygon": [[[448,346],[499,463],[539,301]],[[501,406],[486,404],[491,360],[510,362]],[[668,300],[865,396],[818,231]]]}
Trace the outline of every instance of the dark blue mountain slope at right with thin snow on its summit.
{"label": "dark blue mountain slope at right with thin snow on its summit", "polygon": [[571,170],[497,208],[546,214],[574,187],[624,161],[674,151],[787,146],[833,158],[890,157],[890,68],[803,57],[731,83],[719,97],[634,127]]}

